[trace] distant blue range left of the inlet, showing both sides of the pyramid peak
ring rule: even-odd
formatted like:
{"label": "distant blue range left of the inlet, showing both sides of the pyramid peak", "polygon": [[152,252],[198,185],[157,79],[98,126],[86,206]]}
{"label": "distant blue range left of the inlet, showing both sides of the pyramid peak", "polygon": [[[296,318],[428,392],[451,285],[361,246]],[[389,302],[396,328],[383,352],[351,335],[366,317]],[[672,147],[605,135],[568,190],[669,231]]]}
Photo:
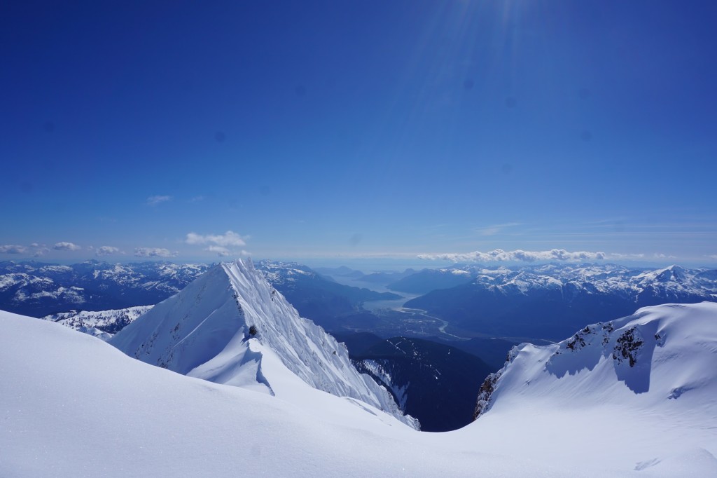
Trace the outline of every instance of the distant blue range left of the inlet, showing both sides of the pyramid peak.
{"label": "distant blue range left of the inlet, showing both sides of the pyramid peak", "polygon": [[[154,305],[176,294],[210,266],[167,262],[58,264],[0,262],[0,309],[31,317],[69,311],[107,311]],[[303,317],[330,325],[361,311],[364,301],[398,299],[344,286],[298,263],[261,261],[257,270],[285,294]]]}

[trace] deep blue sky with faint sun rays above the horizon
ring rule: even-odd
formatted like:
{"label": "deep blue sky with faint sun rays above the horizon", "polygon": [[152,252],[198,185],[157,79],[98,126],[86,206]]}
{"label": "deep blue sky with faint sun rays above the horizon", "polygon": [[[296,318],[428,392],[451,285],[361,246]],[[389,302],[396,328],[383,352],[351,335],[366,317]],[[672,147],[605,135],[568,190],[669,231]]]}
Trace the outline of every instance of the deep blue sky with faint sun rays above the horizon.
{"label": "deep blue sky with faint sun rays above the horizon", "polygon": [[3,2],[0,260],[717,266],[716,24],[696,0]]}

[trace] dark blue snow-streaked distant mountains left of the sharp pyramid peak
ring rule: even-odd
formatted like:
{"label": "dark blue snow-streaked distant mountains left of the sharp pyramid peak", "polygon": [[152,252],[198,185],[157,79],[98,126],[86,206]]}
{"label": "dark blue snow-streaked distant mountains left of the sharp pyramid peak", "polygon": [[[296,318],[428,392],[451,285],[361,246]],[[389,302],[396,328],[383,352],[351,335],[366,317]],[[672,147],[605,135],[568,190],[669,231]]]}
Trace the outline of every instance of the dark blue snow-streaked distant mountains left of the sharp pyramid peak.
{"label": "dark blue snow-streaked distant mountains left of the sharp pyramid peak", "polygon": [[0,263],[1,308],[32,317],[57,312],[153,305],[204,273],[206,264],[86,261],[59,266]]}

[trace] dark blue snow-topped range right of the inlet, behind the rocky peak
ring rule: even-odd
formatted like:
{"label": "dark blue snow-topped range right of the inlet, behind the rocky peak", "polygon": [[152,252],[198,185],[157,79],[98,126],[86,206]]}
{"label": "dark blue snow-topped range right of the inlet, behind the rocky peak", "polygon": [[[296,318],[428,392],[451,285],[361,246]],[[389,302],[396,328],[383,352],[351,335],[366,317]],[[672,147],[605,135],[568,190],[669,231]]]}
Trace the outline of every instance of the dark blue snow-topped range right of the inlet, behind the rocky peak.
{"label": "dark blue snow-topped range right of the inlet, behind the rocky peak", "polygon": [[[492,336],[559,340],[586,322],[642,306],[717,301],[717,271],[614,264],[460,268],[470,282],[407,301],[451,325]],[[450,273],[450,271],[445,271]]]}

